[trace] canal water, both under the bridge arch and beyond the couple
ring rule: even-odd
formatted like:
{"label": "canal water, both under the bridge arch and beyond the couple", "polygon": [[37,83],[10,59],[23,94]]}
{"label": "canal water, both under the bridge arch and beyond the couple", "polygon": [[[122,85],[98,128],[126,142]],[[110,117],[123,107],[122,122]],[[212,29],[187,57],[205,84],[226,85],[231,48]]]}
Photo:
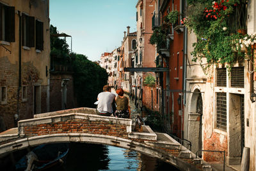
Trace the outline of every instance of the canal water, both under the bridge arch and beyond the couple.
{"label": "canal water, both under the bridge arch and beyond the couple", "polygon": [[[136,116],[141,111],[135,107],[131,99],[129,103],[131,106],[131,119],[134,123]],[[119,147],[100,144],[70,143],[68,144],[68,149],[69,151],[67,156],[65,156],[64,163],[45,170],[178,170],[157,158]],[[25,149],[0,158],[1,170],[16,170],[15,163],[22,156],[26,155],[27,152],[28,149]]]}

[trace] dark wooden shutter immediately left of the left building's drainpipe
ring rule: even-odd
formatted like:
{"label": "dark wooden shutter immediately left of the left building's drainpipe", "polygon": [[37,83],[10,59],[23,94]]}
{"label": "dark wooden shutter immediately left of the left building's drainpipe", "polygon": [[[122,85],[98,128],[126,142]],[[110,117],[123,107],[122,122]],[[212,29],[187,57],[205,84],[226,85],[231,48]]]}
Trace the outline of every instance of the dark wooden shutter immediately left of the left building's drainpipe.
{"label": "dark wooden shutter immediately left of the left building's drainpipe", "polygon": [[15,8],[5,6],[5,39],[9,42],[15,41]]}

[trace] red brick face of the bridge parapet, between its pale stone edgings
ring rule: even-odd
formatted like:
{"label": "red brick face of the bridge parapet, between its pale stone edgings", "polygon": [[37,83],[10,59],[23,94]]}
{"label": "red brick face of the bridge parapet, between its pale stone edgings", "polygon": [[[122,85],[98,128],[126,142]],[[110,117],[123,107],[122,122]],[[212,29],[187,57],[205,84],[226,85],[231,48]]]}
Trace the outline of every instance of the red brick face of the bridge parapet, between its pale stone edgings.
{"label": "red brick face of the bridge parapet, between its pale stone edgings", "polygon": [[91,133],[127,138],[125,124],[113,124],[109,121],[88,121],[85,119],[68,119],[58,123],[24,126],[26,137],[49,135],[54,133]]}

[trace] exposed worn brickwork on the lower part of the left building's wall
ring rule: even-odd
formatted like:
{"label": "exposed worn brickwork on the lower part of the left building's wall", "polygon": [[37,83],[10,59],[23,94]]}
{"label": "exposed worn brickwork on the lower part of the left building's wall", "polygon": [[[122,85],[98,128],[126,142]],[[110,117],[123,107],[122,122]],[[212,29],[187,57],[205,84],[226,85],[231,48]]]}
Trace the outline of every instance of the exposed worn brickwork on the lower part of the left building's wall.
{"label": "exposed worn brickwork on the lower part of the left building's wall", "polygon": [[[33,63],[22,63],[21,85],[27,86],[27,99],[22,100],[22,90],[19,91],[19,109],[17,93],[19,89],[19,64],[12,64],[8,57],[0,57],[0,86],[7,87],[7,103],[0,104],[0,117],[3,119],[1,128],[4,130],[15,127],[14,115],[19,110],[19,119],[33,118],[34,85],[40,84],[39,71]],[[47,86],[41,86],[41,112],[47,112]],[[3,131],[3,130],[1,130]]]}

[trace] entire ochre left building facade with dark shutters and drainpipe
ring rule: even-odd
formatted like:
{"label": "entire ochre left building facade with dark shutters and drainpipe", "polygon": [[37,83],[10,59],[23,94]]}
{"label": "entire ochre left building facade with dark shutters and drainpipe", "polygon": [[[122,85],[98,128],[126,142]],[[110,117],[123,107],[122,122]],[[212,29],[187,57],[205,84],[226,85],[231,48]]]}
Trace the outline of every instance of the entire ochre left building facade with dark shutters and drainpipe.
{"label": "entire ochre left building facade with dark shutters and drainpipe", "polygon": [[49,111],[49,1],[0,1],[1,131]]}

